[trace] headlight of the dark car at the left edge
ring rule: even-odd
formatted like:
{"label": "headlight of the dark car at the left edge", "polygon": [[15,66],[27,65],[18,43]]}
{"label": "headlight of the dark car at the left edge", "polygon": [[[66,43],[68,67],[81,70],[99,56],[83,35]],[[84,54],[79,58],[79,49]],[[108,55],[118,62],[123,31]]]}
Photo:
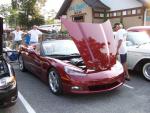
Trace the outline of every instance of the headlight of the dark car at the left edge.
{"label": "headlight of the dark car at the left edge", "polygon": [[4,77],[0,79],[0,89],[5,89],[9,86],[15,86],[16,79],[14,76]]}

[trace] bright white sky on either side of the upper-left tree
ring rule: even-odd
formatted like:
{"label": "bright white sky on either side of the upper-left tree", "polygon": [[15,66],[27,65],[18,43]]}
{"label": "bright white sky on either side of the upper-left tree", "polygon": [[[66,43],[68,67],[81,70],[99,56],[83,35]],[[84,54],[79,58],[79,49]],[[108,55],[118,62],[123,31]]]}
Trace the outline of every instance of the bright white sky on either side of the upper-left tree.
{"label": "bright white sky on either side of the upper-left tree", "polygon": [[[45,9],[52,10],[54,9],[55,11],[58,11],[62,5],[64,0],[47,0],[47,3],[45,4]],[[1,0],[0,4],[6,4],[6,3],[11,3],[11,0]]]}

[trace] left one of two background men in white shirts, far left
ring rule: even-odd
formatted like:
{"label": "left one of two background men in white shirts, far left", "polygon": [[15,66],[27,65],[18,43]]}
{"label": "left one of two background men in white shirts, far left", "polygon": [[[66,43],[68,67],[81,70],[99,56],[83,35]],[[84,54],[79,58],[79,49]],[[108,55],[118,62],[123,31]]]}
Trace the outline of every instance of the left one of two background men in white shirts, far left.
{"label": "left one of two background men in white shirts, far left", "polygon": [[13,35],[13,49],[17,49],[20,46],[23,34],[19,26],[16,27],[15,31],[11,32],[10,35]]}

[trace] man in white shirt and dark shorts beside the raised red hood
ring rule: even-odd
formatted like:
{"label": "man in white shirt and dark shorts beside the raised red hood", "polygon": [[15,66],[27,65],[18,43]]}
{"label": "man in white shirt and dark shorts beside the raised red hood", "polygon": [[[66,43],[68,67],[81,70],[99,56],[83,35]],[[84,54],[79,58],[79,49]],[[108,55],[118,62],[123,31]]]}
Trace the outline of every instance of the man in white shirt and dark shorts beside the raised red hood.
{"label": "man in white shirt and dark shorts beside the raised red hood", "polygon": [[130,75],[127,67],[127,48],[126,48],[126,37],[127,31],[123,29],[123,25],[121,23],[116,23],[114,25],[115,40],[117,41],[117,53],[120,55],[120,61],[123,65],[124,72],[126,74],[126,80],[130,80]]}

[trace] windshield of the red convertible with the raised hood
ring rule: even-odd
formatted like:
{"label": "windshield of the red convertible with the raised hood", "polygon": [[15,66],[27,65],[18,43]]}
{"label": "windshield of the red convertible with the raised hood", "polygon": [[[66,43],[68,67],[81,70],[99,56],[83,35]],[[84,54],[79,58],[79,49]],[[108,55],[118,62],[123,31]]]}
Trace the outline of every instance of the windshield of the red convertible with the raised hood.
{"label": "windshield of the red convertible with the raised hood", "polygon": [[79,51],[72,40],[53,40],[43,43],[46,56],[49,55],[79,55]]}

